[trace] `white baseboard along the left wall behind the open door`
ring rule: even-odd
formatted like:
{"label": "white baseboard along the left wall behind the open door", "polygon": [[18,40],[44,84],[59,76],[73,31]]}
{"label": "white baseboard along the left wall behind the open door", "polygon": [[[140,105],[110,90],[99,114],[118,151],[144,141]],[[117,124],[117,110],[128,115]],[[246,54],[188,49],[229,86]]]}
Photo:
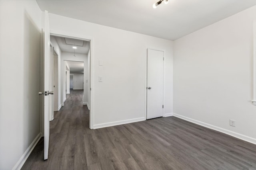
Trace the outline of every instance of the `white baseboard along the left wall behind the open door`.
{"label": "white baseboard along the left wall behind the open door", "polygon": [[24,154],[21,156],[20,160],[16,163],[16,165],[12,168],[12,170],[20,170],[26,160],[28,159],[28,156],[32,152],[32,150],[36,147],[36,144],[41,139],[41,133],[39,133],[34,141],[29,145],[28,149],[24,152]]}

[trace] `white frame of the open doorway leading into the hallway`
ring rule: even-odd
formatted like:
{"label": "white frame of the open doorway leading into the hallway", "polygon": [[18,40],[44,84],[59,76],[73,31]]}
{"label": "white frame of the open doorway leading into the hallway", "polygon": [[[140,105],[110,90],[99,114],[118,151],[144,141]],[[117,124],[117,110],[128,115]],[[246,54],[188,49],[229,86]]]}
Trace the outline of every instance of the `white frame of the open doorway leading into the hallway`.
{"label": "white frame of the open doorway leading into the hallway", "polygon": [[88,92],[90,97],[90,123],[89,128],[93,129],[93,119],[94,119],[94,38],[92,37],[86,37],[82,35],[74,35],[72,33],[63,33],[55,30],[50,29],[50,35],[57,36],[57,37],[66,37],[66,38],[72,38],[72,39],[79,39],[82,41],[90,41],[90,88],[91,90]]}

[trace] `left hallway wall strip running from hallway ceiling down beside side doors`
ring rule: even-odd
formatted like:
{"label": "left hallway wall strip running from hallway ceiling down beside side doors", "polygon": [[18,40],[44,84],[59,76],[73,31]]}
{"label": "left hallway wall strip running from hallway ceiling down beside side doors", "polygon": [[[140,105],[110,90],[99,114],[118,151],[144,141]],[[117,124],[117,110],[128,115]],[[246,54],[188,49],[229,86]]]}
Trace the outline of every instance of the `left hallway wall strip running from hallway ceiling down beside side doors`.
{"label": "left hallway wall strip running from hallway ceiling down beside side doors", "polygon": [[54,51],[58,54],[58,108],[60,108],[61,105],[61,84],[60,84],[60,71],[61,71],[61,65],[60,65],[60,61],[61,61],[61,50],[60,47],[55,39],[55,37],[50,36],[50,41],[52,43],[52,46],[54,47]]}

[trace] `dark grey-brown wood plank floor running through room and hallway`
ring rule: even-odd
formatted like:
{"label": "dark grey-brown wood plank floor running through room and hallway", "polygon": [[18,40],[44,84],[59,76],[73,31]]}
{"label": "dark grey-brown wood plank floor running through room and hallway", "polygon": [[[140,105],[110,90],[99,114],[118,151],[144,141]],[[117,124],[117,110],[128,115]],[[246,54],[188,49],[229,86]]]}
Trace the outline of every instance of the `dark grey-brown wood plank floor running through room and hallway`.
{"label": "dark grey-brown wood plank floor running through room and hallway", "polygon": [[[106,111],[107,114],[107,111]],[[256,145],[176,117],[90,130],[82,91],[72,90],[22,170],[256,170]]]}

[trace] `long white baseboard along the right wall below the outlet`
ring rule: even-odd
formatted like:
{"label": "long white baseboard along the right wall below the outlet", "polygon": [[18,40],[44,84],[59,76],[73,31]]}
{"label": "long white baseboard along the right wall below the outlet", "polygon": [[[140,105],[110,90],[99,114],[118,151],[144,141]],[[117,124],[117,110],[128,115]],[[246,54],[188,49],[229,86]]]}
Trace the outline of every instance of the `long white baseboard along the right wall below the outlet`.
{"label": "long white baseboard along the right wall below the outlet", "polygon": [[195,119],[191,119],[189,117],[185,117],[185,116],[182,116],[182,115],[178,115],[176,113],[173,113],[173,116],[175,117],[178,117],[180,119],[183,119],[183,120],[186,120],[186,121],[190,121],[192,123],[195,123],[197,125],[201,125],[201,126],[204,126],[204,127],[207,127],[209,129],[213,129],[215,131],[219,131],[219,132],[222,132],[222,133],[225,133],[227,135],[230,135],[232,137],[236,137],[238,139],[241,139],[243,141],[246,141],[246,142],[250,142],[250,143],[253,143],[256,145],[256,139],[255,138],[252,138],[252,137],[248,137],[246,135],[242,135],[240,133],[236,133],[236,132],[233,132],[233,131],[230,131],[230,130],[227,130],[227,129],[223,129],[221,127],[217,127],[217,126],[214,126],[214,125],[210,125],[208,123],[204,123],[202,121],[197,121]]}

